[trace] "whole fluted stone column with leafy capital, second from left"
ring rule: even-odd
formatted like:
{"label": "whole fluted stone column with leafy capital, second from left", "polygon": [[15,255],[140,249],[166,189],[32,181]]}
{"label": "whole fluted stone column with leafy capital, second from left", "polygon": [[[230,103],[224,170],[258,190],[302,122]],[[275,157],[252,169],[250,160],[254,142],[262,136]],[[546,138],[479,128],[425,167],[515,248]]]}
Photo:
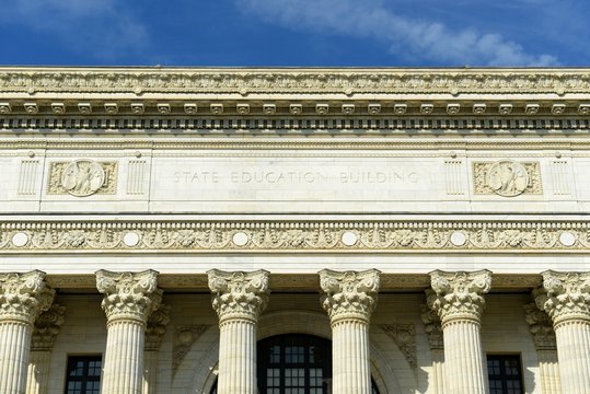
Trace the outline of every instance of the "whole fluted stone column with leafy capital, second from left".
{"label": "whole fluted stone column with leafy capital, second from left", "polygon": [[96,273],[96,288],[104,293],[106,351],[102,393],[140,394],[143,376],[146,323],[160,306],[158,273]]}

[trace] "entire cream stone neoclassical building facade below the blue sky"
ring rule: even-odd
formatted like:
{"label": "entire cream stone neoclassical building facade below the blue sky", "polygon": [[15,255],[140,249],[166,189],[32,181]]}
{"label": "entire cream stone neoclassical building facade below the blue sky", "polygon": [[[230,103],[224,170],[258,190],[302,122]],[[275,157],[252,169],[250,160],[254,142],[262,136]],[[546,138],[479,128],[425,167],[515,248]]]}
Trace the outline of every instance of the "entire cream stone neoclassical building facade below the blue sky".
{"label": "entire cream stone neoclassical building facade below the blue sky", "polygon": [[0,68],[0,394],[590,393],[590,70]]}

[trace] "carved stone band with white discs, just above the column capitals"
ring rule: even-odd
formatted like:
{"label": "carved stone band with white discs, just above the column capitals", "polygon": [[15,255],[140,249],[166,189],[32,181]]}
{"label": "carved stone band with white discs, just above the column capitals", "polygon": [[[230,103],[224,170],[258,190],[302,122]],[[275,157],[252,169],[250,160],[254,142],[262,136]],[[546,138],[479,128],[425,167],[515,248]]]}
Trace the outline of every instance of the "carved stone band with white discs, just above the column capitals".
{"label": "carved stone band with white discs, just above the column capitals", "polygon": [[72,221],[0,223],[0,253],[588,253],[572,221]]}

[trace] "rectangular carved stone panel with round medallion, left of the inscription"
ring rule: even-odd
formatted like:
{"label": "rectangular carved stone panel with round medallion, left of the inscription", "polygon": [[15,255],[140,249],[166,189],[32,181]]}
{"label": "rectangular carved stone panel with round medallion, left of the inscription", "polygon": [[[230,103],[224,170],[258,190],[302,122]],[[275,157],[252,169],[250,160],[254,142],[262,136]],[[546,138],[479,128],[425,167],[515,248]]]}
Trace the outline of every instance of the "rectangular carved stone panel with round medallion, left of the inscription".
{"label": "rectangular carved stone panel with round medallion, left of the inscription", "polygon": [[48,195],[69,194],[88,197],[117,193],[117,162],[76,160],[53,162],[49,167]]}

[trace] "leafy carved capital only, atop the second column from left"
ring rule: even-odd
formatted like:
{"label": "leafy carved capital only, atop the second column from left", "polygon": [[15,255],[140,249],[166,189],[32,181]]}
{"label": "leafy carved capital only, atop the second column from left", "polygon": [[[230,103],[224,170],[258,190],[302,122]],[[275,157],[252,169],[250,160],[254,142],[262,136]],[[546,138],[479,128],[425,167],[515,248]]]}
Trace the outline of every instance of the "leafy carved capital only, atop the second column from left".
{"label": "leafy carved capital only, atop the second column from left", "polygon": [[150,314],[160,306],[162,290],[158,289],[158,273],[96,271],[96,288],[104,293],[103,310],[108,323],[131,320],[146,325]]}

